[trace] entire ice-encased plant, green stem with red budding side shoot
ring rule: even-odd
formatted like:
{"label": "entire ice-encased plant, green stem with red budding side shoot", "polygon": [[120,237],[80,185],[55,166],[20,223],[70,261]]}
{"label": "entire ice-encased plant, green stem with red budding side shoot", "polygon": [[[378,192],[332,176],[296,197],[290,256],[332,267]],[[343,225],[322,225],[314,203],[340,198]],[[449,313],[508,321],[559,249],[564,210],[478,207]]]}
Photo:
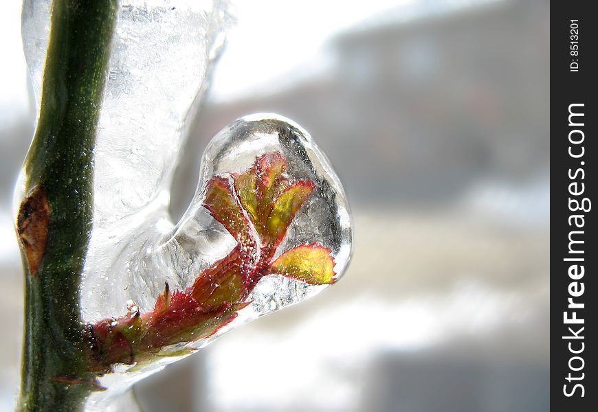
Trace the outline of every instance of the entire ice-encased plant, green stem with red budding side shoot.
{"label": "entire ice-encased plant, green stem with red budding side shoot", "polygon": [[170,185],[230,21],[223,1],[25,0],[38,108],[15,195],[25,266],[23,411],[107,410],[236,325],[342,275],[351,218],[293,122],[243,117]]}

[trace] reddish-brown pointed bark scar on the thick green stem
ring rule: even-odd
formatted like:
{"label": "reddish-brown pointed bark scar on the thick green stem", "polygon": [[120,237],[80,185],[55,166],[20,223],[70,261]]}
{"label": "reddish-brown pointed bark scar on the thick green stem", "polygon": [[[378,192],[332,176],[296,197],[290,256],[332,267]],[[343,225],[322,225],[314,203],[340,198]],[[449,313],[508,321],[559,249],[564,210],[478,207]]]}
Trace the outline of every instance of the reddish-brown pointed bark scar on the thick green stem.
{"label": "reddish-brown pointed bark scar on the thick green stem", "polygon": [[49,227],[49,204],[45,190],[36,185],[21,202],[16,231],[23,244],[30,275],[35,276],[45,253]]}

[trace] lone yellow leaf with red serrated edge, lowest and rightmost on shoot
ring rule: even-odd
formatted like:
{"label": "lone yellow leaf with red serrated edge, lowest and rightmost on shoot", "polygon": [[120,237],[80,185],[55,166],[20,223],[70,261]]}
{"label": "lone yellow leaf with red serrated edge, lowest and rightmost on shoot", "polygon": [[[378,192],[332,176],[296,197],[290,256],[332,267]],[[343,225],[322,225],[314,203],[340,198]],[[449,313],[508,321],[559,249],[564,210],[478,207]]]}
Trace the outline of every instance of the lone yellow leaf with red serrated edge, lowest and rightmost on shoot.
{"label": "lone yellow leaf with red serrated edge, lowest and rightmost on shoot", "polygon": [[277,273],[312,285],[334,283],[334,260],[330,249],[320,244],[302,244],[289,249],[269,267]]}

